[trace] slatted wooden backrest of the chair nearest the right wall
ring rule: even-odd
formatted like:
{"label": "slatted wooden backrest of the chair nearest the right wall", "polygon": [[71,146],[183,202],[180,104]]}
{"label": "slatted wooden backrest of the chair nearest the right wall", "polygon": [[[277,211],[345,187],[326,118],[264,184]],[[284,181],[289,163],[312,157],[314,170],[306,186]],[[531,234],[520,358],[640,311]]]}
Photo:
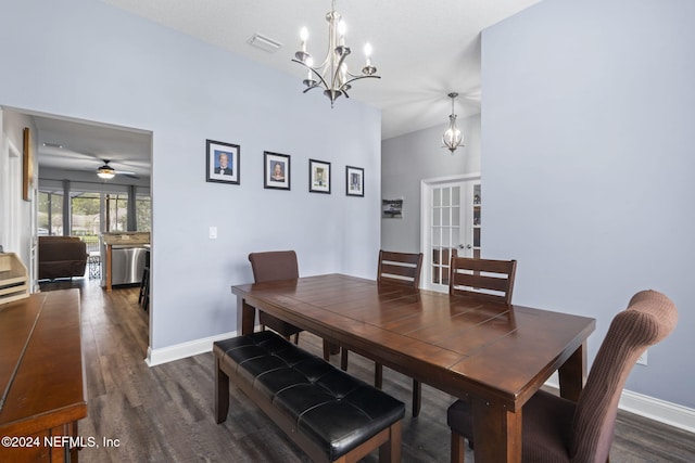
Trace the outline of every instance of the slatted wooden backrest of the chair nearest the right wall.
{"label": "slatted wooden backrest of the chair nearest the right wall", "polygon": [[458,257],[454,252],[448,294],[511,304],[516,271],[516,260]]}

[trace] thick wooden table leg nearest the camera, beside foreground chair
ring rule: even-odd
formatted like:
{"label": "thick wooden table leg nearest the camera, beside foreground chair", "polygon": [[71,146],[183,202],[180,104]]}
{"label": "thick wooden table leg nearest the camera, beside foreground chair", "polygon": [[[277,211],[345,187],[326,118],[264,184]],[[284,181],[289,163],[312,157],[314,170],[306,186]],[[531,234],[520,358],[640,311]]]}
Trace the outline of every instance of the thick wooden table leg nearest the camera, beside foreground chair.
{"label": "thick wooden table leg nearest the camera, beside foreground chair", "polygon": [[513,412],[478,398],[471,401],[476,461],[521,463],[522,410]]}

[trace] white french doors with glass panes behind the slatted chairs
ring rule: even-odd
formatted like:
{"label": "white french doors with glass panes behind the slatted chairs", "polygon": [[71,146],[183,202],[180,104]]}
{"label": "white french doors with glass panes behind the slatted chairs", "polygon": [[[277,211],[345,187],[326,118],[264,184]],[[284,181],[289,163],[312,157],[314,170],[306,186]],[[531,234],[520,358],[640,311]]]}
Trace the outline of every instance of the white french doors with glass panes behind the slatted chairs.
{"label": "white french doors with glass panes behind the slatted chairs", "polygon": [[480,257],[480,176],[424,180],[421,196],[421,286],[445,293],[454,250]]}

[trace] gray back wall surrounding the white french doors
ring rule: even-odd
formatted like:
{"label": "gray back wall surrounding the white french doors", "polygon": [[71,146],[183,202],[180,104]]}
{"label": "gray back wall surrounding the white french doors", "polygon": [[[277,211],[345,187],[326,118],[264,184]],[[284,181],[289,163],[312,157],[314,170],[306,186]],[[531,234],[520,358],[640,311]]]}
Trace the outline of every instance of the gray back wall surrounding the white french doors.
{"label": "gray back wall surrounding the white french doors", "polygon": [[441,147],[446,117],[442,113],[441,126],[381,143],[381,197],[403,198],[402,219],[381,219],[383,249],[420,252],[421,180],[480,172],[480,115],[457,120],[465,140],[453,155]]}

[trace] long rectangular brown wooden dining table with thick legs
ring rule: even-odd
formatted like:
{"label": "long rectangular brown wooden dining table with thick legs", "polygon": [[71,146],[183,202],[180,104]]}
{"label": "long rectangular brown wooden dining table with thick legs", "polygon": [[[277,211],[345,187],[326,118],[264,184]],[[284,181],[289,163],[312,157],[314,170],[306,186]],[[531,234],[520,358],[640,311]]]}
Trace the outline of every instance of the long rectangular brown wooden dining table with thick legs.
{"label": "long rectangular brown wooden dining table with thick legs", "polygon": [[577,400],[595,320],[400,284],[325,274],[231,287],[237,331],[256,309],[470,400],[477,462],[521,461],[523,404],[559,373]]}

